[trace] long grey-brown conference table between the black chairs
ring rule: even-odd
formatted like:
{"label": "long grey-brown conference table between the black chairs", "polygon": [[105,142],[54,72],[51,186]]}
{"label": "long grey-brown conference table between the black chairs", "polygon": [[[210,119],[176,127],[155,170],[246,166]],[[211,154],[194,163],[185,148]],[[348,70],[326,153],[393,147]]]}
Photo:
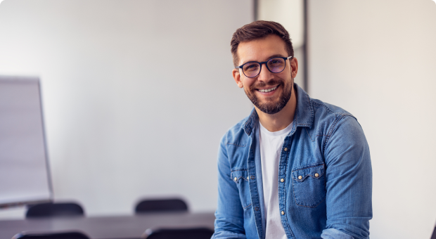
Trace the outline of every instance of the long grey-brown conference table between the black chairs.
{"label": "long grey-brown conference table between the black chairs", "polygon": [[92,239],[141,238],[151,228],[214,228],[213,212],[156,212],[131,216],[0,220],[0,239],[22,231],[81,231]]}

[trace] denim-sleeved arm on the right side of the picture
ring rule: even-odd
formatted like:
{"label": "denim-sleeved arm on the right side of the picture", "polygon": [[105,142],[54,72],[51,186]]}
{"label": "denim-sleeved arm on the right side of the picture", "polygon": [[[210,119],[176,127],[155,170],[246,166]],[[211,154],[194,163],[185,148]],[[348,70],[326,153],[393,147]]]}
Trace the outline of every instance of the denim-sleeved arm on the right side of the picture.
{"label": "denim-sleeved arm on the right side of the picture", "polygon": [[354,117],[342,116],[326,139],[327,225],[321,238],[364,239],[372,218],[368,143]]}

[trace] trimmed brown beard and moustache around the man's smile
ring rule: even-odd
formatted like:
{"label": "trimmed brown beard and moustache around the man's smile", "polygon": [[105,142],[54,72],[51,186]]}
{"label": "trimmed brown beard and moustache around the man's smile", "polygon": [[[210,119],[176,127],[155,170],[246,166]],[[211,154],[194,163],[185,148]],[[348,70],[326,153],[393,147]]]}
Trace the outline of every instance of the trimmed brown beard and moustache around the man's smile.
{"label": "trimmed brown beard and moustache around the man's smile", "polygon": [[[285,108],[286,104],[288,103],[290,96],[292,95],[292,86],[293,86],[294,79],[292,79],[291,84],[284,84],[285,82],[283,80],[271,80],[269,82],[269,85],[276,85],[280,84],[281,87],[283,87],[283,91],[280,96],[278,96],[278,100],[272,101],[267,100],[266,102],[261,103],[259,101],[259,98],[257,98],[255,91],[257,91],[258,88],[264,88],[268,86],[268,84],[265,84],[264,82],[260,82],[259,84],[253,85],[250,87],[250,89],[245,91],[245,94],[250,99],[250,101],[255,105],[260,111],[267,113],[269,115],[274,115],[276,112],[280,112],[283,108]],[[277,89],[276,89],[277,90]]]}

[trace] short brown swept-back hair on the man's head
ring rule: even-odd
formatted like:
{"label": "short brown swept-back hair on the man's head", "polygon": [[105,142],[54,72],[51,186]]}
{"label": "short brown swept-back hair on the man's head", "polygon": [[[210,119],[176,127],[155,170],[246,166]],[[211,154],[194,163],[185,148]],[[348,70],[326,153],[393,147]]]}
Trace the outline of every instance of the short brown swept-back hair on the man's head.
{"label": "short brown swept-back hair on the man's head", "polygon": [[257,20],[255,22],[244,25],[243,27],[236,30],[235,33],[233,33],[233,37],[231,37],[230,41],[231,55],[233,56],[233,65],[235,67],[238,65],[238,46],[241,42],[262,39],[271,34],[275,34],[283,41],[285,41],[286,51],[288,51],[288,55],[294,56],[294,49],[292,46],[292,42],[290,42],[289,32],[286,31],[285,27],[283,27],[278,22]]}

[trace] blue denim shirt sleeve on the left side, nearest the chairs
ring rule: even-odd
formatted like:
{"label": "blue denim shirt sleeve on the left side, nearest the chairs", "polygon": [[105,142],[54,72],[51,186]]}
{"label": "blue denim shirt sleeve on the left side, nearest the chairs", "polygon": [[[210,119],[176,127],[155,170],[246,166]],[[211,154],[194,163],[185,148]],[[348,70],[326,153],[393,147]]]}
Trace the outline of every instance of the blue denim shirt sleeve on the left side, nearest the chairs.
{"label": "blue denim shirt sleeve on the left side, nearest the chairs", "polygon": [[246,238],[243,207],[238,188],[231,180],[230,173],[231,168],[223,137],[218,152],[218,204],[215,212],[215,233],[212,239]]}

